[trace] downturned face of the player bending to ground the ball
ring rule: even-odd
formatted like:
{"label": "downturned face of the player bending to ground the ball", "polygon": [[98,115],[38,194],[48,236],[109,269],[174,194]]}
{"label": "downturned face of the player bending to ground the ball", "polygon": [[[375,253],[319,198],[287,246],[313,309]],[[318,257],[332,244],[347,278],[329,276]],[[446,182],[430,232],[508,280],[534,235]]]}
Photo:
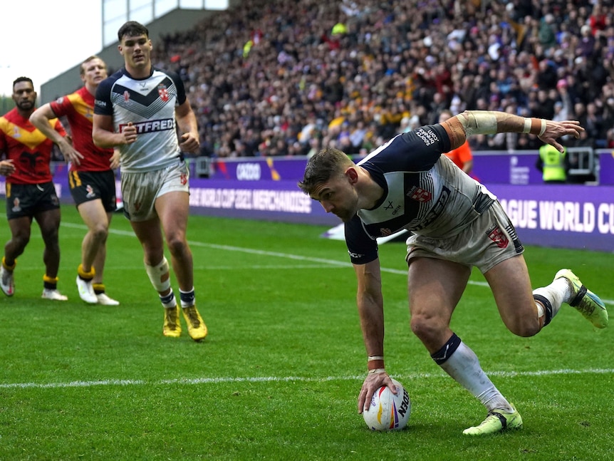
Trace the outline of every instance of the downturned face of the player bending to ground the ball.
{"label": "downturned face of the player bending to ground the ball", "polygon": [[346,175],[336,176],[318,184],[311,198],[318,200],[324,211],[348,222],[358,212],[358,194]]}

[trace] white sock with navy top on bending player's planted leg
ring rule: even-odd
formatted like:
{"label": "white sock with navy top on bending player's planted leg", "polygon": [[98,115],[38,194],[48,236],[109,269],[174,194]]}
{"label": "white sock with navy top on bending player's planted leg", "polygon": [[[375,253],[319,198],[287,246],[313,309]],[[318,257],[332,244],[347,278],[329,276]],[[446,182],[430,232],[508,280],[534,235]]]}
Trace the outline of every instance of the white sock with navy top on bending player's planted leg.
{"label": "white sock with navy top on bending player's planted leg", "polygon": [[467,347],[455,333],[431,357],[443,371],[482,402],[486,410],[491,411],[497,408],[510,413],[513,411],[506,398],[501,395],[482,370],[474,351]]}

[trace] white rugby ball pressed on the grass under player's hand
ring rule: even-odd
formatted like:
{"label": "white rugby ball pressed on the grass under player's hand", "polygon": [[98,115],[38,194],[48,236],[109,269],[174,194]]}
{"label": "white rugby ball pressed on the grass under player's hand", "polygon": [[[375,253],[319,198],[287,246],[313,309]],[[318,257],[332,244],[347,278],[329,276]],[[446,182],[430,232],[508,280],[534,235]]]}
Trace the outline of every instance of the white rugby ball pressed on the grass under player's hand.
{"label": "white rugby ball pressed on the grass under player's hand", "polygon": [[368,410],[363,410],[363,418],[370,430],[401,430],[407,425],[412,413],[410,395],[401,383],[393,379],[397,395],[383,385],[373,393]]}

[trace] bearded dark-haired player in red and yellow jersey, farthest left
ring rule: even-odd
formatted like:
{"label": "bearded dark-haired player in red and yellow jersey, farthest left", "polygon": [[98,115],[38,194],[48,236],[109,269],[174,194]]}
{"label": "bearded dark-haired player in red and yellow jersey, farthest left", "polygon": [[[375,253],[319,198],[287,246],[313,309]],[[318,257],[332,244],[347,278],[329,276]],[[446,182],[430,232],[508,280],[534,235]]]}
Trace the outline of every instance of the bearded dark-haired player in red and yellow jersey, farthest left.
{"label": "bearded dark-haired player in red and yellow jersey, farthest left", "polygon": [[[6,176],[6,217],[11,229],[0,264],[0,288],[6,296],[13,296],[16,259],[26,249],[32,219],[36,219],[45,243],[42,297],[66,301],[57,287],[60,202],[49,167],[53,142],[28,120],[36,109],[36,91],[30,78],[19,77],[13,82],[13,100],[16,108],[0,117],[0,153],[6,159],[0,162],[0,174]],[[58,137],[66,137],[59,120],[51,120],[50,126]]]}

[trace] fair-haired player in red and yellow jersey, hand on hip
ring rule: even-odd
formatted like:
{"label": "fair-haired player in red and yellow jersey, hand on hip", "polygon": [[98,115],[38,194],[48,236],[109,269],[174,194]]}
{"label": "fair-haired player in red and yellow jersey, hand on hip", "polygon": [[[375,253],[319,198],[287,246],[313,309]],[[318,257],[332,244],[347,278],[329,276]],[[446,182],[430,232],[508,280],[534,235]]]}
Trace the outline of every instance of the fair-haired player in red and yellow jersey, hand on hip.
{"label": "fair-haired player in red and yellow jersey, hand on hip", "polygon": [[[90,304],[117,306],[119,302],[105,294],[103,270],[109,224],[116,204],[113,168],[119,166],[119,152],[97,147],[92,140],[94,95],[98,83],[107,78],[107,66],[98,56],[90,56],[81,63],[80,76],[82,88],[38,108],[30,121],[58,144],[71,164],[68,171],[71,195],[88,226],[81,244],[81,264],[77,268],[79,296]],[[57,117],[68,120],[72,144],[49,123]]]}

